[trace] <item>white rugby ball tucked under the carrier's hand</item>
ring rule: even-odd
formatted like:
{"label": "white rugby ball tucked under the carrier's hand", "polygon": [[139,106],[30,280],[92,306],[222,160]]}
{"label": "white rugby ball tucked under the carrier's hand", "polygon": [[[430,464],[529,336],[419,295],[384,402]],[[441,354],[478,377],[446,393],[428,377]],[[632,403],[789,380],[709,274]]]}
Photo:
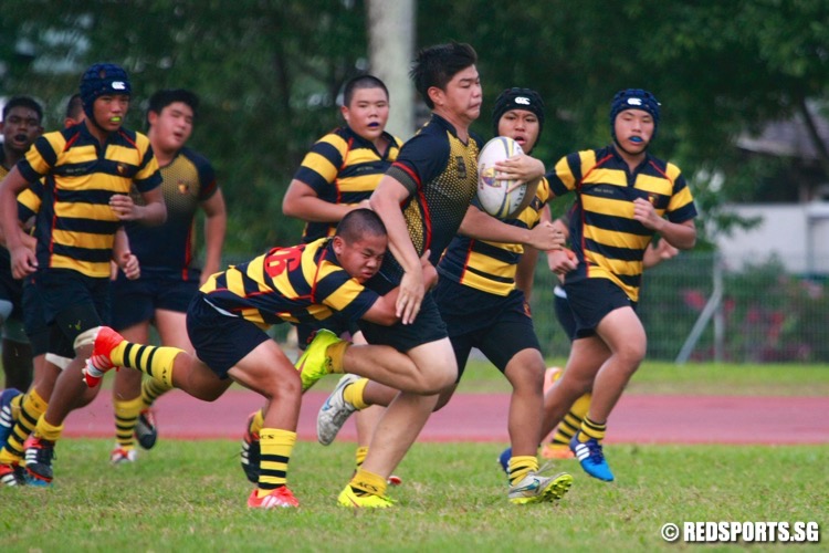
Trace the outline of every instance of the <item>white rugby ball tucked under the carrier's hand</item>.
{"label": "white rugby ball tucked under the carrier's hand", "polygon": [[484,211],[499,219],[515,216],[527,192],[526,184],[501,179],[495,173],[495,163],[523,154],[521,145],[506,136],[496,136],[487,142],[478,156],[478,201]]}

